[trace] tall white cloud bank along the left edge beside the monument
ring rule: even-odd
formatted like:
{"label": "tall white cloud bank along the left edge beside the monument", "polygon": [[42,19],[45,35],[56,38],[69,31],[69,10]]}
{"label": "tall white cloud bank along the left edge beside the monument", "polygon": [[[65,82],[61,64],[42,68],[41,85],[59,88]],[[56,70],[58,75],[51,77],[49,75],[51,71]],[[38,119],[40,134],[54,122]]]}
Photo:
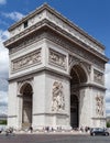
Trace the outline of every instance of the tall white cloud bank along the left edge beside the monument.
{"label": "tall white cloud bank along the left edge beside the monument", "polygon": [[8,37],[9,32],[0,30],[0,113],[7,113],[8,110],[9,54],[3,46],[3,41]]}

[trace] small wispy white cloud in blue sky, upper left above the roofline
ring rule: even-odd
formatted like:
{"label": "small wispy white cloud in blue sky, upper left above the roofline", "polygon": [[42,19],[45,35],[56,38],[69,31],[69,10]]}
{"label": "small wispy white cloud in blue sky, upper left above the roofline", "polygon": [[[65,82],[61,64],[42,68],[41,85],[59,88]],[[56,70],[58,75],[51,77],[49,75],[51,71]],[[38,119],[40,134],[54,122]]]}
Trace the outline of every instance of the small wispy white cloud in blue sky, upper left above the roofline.
{"label": "small wispy white cloud in blue sky, upper left above the roofline", "polygon": [[13,21],[19,21],[24,16],[24,14],[22,14],[20,12],[16,12],[16,11],[10,12],[10,13],[2,13],[2,15],[4,15],[6,18],[11,19]]}

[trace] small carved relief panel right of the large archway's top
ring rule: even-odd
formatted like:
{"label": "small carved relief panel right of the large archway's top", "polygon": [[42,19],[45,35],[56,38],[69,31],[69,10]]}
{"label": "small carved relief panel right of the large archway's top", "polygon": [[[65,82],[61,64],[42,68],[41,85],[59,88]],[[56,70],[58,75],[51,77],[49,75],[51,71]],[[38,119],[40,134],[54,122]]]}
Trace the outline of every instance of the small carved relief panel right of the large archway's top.
{"label": "small carved relief panel right of the large archway's top", "polygon": [[103,74],[94,69],[94,81],[103,85]]}

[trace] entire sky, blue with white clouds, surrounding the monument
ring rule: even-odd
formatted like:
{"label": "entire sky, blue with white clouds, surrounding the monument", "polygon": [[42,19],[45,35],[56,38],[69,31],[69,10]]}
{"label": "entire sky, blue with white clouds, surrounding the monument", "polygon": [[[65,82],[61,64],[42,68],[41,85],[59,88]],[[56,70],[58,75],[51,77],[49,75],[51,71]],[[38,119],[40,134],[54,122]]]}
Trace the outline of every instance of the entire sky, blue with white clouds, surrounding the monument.
{"label": "entire sky, blue with white clouds, surrounding the monument", "polygon": [[[110,0],[0,0],[0,112],[7,112],[8,51],[2,42],[8,28],[44,2],[85,30],[106,46],[110,58]],[[6,66],[4,66],[6,65]],[[110,114],[110,64],[106,65],[107,113]],[[3,110],[2,110],[3,109]]]}

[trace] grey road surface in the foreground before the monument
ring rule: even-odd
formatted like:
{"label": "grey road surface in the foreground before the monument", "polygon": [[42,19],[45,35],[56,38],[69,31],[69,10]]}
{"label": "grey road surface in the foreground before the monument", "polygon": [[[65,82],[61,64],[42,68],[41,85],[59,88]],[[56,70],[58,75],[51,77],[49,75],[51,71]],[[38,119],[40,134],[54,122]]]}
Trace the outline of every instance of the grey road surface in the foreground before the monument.
{"label": "grey road surface in the foreground before the monument", "polygon": [[110,136],[89,134],[0,134],[0,143],[110,143]]}

